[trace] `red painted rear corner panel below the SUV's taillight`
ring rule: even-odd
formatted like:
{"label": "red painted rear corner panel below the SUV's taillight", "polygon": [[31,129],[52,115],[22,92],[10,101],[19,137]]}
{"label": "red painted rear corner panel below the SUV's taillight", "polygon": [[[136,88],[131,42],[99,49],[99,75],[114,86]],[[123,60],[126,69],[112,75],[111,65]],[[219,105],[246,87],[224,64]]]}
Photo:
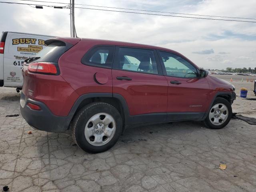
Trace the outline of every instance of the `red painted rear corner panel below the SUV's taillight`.
{"label": "red painted rear corner panel below the SUV's taillight", "polygon": [[78,94],[60,75],[30,73],[27,68],[24,66],[22,92],[28,98],[46,104],[54,115],[67,116]]}

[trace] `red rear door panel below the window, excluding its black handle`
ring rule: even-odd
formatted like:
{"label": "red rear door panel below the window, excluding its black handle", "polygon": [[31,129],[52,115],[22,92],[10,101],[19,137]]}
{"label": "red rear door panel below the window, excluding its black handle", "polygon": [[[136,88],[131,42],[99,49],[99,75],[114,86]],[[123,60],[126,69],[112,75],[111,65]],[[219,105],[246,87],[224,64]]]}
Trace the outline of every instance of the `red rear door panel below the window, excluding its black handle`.
{"label": "red rear door panel below the window, excluding its black handle", "polygon": [[[167,112],[168,84],[164,76],[112,70],[113,93],[124,97],[130,115]],[[127,76],[130,81],[117,80]]]}

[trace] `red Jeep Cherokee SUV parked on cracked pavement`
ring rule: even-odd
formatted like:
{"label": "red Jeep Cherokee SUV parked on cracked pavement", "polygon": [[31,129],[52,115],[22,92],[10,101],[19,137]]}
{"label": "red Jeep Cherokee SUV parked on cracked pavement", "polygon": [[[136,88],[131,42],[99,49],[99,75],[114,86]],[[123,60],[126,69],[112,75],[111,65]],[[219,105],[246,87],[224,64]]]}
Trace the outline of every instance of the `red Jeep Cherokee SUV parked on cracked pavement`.
{"label": "red Jeep Cherokee SUV parked on cracked pavement", "polygon": [[25,60],[20,111],[33,128],[71,130],[86,152],[111,148],[128,126],[184,120],[223,128],[234,86],[156,46],[54,38]]}

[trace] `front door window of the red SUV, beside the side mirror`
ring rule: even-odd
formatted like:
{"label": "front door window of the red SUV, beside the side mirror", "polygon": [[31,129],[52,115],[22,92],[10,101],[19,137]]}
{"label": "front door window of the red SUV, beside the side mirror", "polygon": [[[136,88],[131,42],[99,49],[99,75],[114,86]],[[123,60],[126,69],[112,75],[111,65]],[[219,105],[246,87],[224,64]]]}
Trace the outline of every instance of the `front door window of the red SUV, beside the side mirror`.
{"label": "front door window of the red SUV, beside the side mirror", "polygon": [[196,68],[176,54],[160,51],[168,76],[194,78],[197,77]]}

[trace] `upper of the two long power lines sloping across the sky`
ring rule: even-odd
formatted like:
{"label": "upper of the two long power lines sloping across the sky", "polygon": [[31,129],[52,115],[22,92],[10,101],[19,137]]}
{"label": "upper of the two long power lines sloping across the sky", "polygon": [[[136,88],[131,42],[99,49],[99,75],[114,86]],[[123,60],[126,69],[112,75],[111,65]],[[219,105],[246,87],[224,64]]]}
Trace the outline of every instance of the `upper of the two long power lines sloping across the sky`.
{"label": "upper of the two long power lines sloping across the sky", "polygon": [[[20,1],[32,1],[32,2],[45,2],[45,3],[68,4],[68,3],[61,3],[61,2],[38,1],[38,0],[20,0]],[[75,5],[92,6],[92,7],[102,7],[102,8],[112,8],[112,9],[123,9],[123,10],[133,10],[133,11],[168,13],[168,14],[192,15],[192,16],[207,16],[207,17],[220,17],[220,18],[233,18],[233,19],[250,19],[250,20],[256,20],[255,18],[230,17],[230,16],[214,16],[214,15],[188,14],[188,13],[176,13],[176,12],[164,12],[164,11],[152,11],[152,10],[142,10],[142,9],[121,8],[121,7],[97,6],[97,5],[88,5],[88,4],[75,4]]]}

